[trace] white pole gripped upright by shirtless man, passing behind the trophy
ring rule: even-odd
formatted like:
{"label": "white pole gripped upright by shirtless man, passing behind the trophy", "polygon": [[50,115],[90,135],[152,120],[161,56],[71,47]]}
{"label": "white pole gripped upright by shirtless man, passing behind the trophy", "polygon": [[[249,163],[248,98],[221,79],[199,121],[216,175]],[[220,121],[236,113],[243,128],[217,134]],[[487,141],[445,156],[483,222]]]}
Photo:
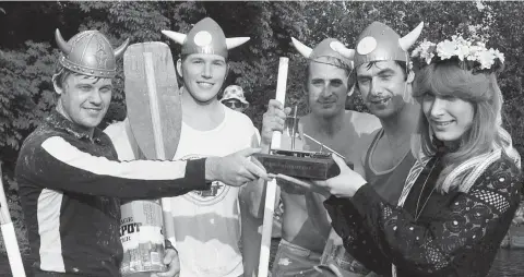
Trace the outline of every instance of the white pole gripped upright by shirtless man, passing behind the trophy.
{"label": "white pole gripped upright by shirtless man, passing behind the trophy", "polygon": [[[275,99],[285,105],[286,100],[286,82],[287,82],[287,67],[289,63],[288,58],[281,57],[278,63],[278,79],[276,82],[276,97]],[[273,138],[271,142],[271,148],[281,147],[281,132],[273,132]],[[270,246],[271,246],[271,231],[273,228],[273,214],[275,208],[276,197],[276,180],[267,182],[267,189],[265,192],[265,206],[264,206],[264,222],[262,226],[262,242],[260,246],[260,261],[259,261],[259,277],[266,277],[270,267]]]}

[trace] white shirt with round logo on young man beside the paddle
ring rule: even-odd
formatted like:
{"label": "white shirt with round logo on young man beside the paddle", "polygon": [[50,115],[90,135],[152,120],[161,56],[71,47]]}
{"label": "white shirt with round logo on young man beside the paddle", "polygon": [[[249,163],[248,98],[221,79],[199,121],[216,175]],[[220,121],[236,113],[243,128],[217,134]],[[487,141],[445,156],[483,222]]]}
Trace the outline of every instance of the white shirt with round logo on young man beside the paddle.
{"label": "white shirt with round logo on young man beside the paddle", "polygon": [[[255,128],[243,113],[224,108],[224,121],[213,130],[198,131],[182,122],[174,159],[226,156],[251,146]],[[109,125],[119,159],[133,159],[126,123]],[[237,277],[243,274],[240,241],[239,189],[213,182],[209,191],[163,198],[175,222],[180,277]]]}

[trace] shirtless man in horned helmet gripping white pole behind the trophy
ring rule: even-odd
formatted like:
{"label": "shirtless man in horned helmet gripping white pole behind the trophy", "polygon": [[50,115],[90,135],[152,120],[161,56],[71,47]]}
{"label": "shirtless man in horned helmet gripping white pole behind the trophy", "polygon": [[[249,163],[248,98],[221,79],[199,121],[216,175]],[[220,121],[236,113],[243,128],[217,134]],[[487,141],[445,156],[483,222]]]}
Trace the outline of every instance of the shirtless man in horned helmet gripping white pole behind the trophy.
{"label": "shirtless man in horned helmet gripping white pole behind the trophy", "polygon": [[[367,113],[345,110],[353,91],[353,50],[334,38],[322,40],[314,49],[291,38],[296,49],[309,60],[303,82],[311,112],[299,121],[303,147],[321,150],[323,143],[348,160],[357,158],[358,145],[380,128],[379,120]],[[282,131],[289,108],[271,100],[264,113],[262,152],[269,150],[272,132]],[[315,142],[317,141],[317,142]],[[299,144],[297,144],[299,145]],[[283,141],[283,148],[289,147]],[[322,276],[314,269],[320,264],[331,225],[320,194],[278,182],[284,203],[282,241],[275,256],[272,276]]]}

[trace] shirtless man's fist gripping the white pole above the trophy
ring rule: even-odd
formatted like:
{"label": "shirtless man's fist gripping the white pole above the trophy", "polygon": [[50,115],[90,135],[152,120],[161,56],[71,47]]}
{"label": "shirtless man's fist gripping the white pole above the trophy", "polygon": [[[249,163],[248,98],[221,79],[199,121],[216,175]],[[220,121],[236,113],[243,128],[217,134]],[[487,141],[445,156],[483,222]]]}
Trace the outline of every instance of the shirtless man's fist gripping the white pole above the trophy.
{"label": "shirtless man's fist gripping the white pole above the trophy", "polygon": [[273,132],[282,132],[286,123],[286,117],[291,111],[291,108],[284,108],[284,105],[276,99],[271,99],[267,104],[267,110],[262,118],[262,132],[260,146],[262,152],[269,150]]}

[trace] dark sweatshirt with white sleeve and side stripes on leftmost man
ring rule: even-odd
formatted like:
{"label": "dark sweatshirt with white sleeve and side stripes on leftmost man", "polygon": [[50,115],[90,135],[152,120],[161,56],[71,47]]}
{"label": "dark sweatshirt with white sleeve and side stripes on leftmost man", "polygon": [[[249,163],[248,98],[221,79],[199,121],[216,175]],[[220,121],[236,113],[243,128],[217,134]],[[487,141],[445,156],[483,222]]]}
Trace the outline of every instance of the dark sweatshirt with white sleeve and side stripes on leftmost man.
{"label": "dark sweatshirt with white sleeve and side stripes on leftmost man", "polygon": [[120,276],[120,200],[209,190],[205,160],[117,161],[109,137],[57,111],[25,140],[15,177],[34,276]]}

